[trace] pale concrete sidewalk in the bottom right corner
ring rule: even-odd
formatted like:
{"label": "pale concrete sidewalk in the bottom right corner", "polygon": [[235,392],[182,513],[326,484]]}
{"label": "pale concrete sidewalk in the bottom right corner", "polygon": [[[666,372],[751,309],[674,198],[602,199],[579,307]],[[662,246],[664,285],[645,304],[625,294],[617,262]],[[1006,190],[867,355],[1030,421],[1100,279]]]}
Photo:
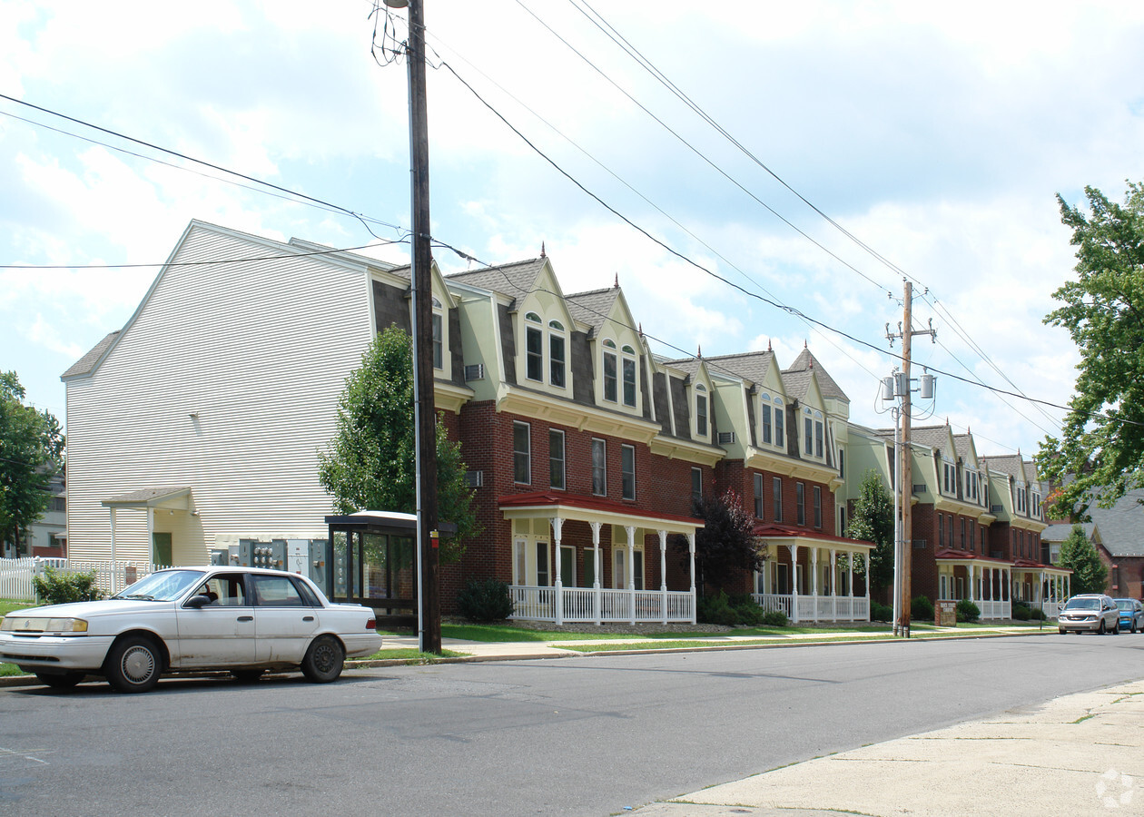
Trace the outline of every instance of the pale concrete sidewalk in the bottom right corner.
{"label": "pale concrete sidewalk in the bottom right corner", "polygon": [[1144,815],[1144,681],[774,769],[637,811]]}

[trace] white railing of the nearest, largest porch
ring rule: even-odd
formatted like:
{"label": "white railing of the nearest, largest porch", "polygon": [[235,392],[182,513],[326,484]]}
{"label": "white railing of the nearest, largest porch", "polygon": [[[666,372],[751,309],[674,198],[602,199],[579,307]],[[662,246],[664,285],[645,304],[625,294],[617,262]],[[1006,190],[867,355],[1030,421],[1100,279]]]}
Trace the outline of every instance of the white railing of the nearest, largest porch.
{"label": "white railing of the nearest, largest porch", "polygon": [[[516,612],[513,618],[556,621],[556,589],[509,586]],[[694,618],[696,602],[690,590],[612,590],[564,587],[561,590],[562,621],[686,621]]]}

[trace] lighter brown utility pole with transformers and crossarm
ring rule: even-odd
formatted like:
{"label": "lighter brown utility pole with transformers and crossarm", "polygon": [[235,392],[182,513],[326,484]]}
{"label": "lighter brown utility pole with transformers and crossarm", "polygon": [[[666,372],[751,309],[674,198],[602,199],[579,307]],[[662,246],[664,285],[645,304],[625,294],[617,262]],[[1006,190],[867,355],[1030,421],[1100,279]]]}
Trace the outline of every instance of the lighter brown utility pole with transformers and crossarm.
{"label": "lighter brown utility pole with transformers and crossarm", "polygon": [[[885,336],[890,340],[890,344],[893,346],[893,341],[897,338],[901,339],[901,371],[896,375],[896,382],[893,391],[896,396],[901,399],[901,410],[899,417],[901,418],[901,446],[897,454],[897,486],[895,493],[896,499],[898,499],[899,507],[899,519],[900,519],[900,531],[901,536],[898,541],[895,542],[896,548],[900,549],[900,560],[898,563],[900,579],[896,582],[896,589],[900,597],[897,618],[893,624],[895,635],[900,635],[906,638],[909,637],[909,618],[911,618],[911,602],[913,600],[913,588],[912,588],[912,570],[913,570],[913,507],[911,500],[914,495],[914,454],[913,449],[909,443],[909,422],[911,422],[911,408],[913,406],[912,392],[913,388],[909,380],[909,356],[913,351],[913,336],[914,335],[929,335],[934,342],[937,342],[937,331],[932,326],[932,322],[928,330],[914,330],[913,324],[913,298],[914,298],[914,286],[908,280],[905,283],[905,299],[904,309],[901,316],[901,331],[898,334],[890,334],[889,326],[887,326]],[[923,398],[932,398],[934,396],[934,378],[929,374],[922,378],[921,388]],[[897,422],[895,422],[895,430],[897,430]]]}

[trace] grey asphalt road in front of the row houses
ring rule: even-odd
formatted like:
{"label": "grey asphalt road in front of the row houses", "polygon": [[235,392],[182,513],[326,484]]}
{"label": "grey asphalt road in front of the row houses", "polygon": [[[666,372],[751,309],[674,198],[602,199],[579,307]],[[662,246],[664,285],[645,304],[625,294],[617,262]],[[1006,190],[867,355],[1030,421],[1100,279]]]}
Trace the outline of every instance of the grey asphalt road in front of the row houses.
{"label": "grey asphalt road in front of the row houses", "polygon": [[0,811],[607,815],[1139,677],[1144,635],[1054,634],[9,689]]}

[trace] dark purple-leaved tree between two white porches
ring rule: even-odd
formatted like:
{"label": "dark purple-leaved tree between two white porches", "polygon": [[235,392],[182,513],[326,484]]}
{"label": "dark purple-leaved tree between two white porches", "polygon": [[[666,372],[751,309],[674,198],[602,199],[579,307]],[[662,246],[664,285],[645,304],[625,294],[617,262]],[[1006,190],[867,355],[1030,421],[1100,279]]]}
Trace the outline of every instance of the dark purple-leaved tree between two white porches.
{"label": "dark purple-leaved tree between two white porches", "polygon": [[[706,523],[696,534],[697,584],[716,593],[742,573],[762,570],[766,550],[754,536],[754,519],[742,507],[742,497],[728,489],[722,497],[696,501],[694,514]],[[677,547],[686,544],[676,540]],[[689,554],[690,556],[690,554]]]}

